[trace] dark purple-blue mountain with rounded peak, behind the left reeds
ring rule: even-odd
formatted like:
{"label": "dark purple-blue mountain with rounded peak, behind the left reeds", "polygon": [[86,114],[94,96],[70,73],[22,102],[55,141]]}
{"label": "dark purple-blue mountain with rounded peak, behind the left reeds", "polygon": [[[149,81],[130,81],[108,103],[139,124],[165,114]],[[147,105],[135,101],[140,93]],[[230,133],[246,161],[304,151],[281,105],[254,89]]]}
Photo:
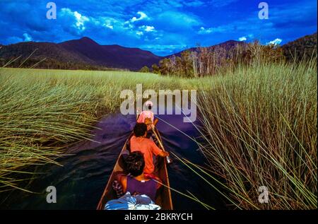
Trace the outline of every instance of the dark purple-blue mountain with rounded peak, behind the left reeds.
{"label": "dark purple-blue mountain with rounded peak, behind the left reeds", "polygon": [[162,57],[139,49],[119,45],[99,45],[88,37],[58,44],[51,42],[20,42],[3,46],[0,58],[11,59],[32,55],[34,60],[51,59],[60,63],[88,64],[107,68],[138,70],[158,63]]}

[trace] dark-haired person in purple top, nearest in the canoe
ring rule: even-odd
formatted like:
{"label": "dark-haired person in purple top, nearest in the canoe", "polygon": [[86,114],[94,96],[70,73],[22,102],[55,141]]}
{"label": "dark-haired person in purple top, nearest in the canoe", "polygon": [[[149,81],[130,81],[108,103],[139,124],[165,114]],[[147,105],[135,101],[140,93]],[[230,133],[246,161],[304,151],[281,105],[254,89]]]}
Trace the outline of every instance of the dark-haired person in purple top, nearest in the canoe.
{"label": "dark-haired person in purple top, nearest in the canoe", "polygon": [[[161,184],[151,177],[144,174],[146,166],[143,153],[139,151],[132,152],[125,160],[126,170],[129,175],[117,173],[116,179],[122,185],[123,193],[129,191],[131,195],[146,194],[155,201],[155,194]],[[160,182],[160,181],[159,181]]]}

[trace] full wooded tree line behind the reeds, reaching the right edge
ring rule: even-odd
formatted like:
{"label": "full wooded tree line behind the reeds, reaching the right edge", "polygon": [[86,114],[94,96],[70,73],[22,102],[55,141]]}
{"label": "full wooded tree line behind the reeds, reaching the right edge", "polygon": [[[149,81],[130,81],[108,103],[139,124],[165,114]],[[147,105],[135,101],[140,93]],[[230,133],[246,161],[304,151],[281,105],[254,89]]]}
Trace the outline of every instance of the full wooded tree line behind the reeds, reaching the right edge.
{"label": "full wooded tree line behind the reeds, reaching the right edge", "polygon": [[179,57],[173,55],[151,69],[141,71],[160,75],[182,76],[187,78],[213,76],[216,73],[248,66],[255,63],[275,63],[278,61],[300,61],[317,59],[317,33],[307,35],[286,45],[261,45],[259,41],[236,43],[234,46],[219,45],[196,47],[187,50]]}

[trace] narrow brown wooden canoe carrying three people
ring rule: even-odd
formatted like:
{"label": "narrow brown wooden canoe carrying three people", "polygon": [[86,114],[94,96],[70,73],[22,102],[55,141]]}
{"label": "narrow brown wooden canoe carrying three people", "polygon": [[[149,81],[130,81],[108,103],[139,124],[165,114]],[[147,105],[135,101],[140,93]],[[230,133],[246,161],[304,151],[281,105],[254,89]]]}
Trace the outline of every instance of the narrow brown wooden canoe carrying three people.
{"label": "narrow brown wooden canoe carrying three people", "polygon": [[[155,129],[156,134],[158,134],[158,137],[160,138],[160,141],[162,141],[161,136],[159,134],[159,131]],[[116,193],[114,189],[112,189],[112,182],[114,182],[115,179],[115,172],[125,172],[124,170],[124,155],[129,154],[129,141],[131,134],[129,138],[126,140],[126,143],[124,144],[124,147],[122,148],[122,152],[119,155],[119,158],[117,159],[116,165],[114,166],[114,170],[112,170],[112,174],[110,175],[110,178],[108,179],[107,185],[105,187],[104,192],[102,193],[102,197],[98,203],[98,210],[103,210],[105,208],[105,204],[107,201],[110,201],[112,199],[117,199]],[[160,146],[159,146],[160,147]],[[163,184],[165,184],[167,187],[160,187],[157,191],[155,204],[158,204],[161,206],[161,209],[163,210],[172,210],[172,199],[171,199],[171,191],[170,191],[170,183],[169,183],[169,177],[167,174],[167,162],[165,158],[163,157],[157,157],[155,160],[155,174],[163,181]]]}

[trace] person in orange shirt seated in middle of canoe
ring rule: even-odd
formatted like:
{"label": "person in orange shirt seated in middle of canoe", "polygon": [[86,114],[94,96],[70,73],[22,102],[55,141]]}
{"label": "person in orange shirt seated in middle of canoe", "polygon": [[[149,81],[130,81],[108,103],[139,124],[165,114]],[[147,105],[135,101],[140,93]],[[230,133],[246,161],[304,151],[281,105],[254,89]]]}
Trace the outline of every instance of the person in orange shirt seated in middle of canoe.
{"label": "person in orange shirt seated in middle of canoe", "polygon": [[159,155],[161,157],[168,156],[169,153],[162,151],[155,145],[151,139],[146,138],[147,125],[144,123],[137,123],[134,127],[134,136],[130,139],[130,151],[140,151],[145,158],[144,172],[146,175],[154,176],[155,165],[153,165],[153,155]]}

